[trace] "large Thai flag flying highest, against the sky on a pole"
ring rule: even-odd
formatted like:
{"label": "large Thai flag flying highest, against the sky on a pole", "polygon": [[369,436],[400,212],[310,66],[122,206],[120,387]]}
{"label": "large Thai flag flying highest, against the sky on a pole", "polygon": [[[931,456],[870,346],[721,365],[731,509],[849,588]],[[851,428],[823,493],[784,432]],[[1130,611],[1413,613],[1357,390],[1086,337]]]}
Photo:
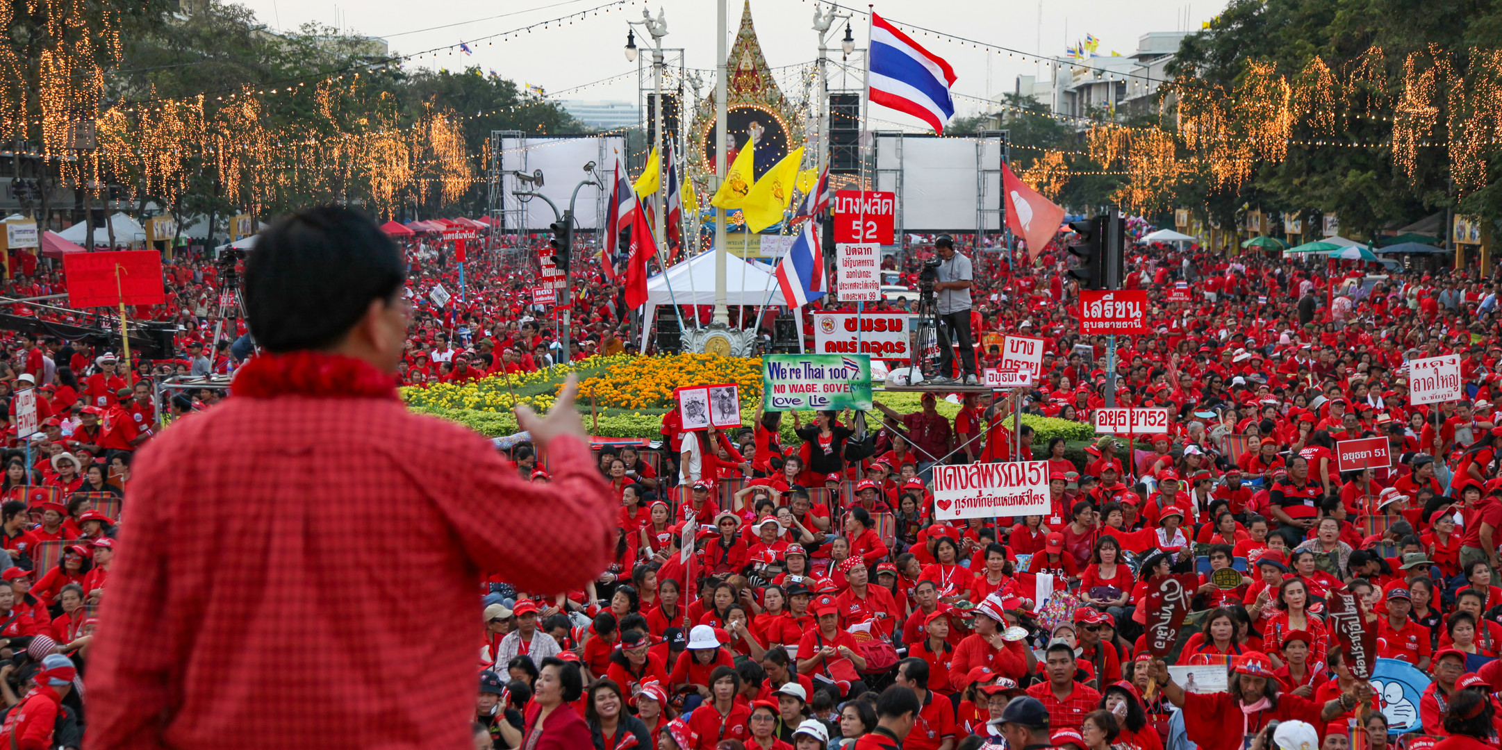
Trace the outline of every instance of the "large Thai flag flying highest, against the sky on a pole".
{"label": "large Thai flag flying highest, against the sky on a pole", "polygon": [[949,100],[954,69],[949,63],[876,14],[871,14],[870,56],[870,100],[924,120],[943,135],[945,123],[954,117],[954,102]]}

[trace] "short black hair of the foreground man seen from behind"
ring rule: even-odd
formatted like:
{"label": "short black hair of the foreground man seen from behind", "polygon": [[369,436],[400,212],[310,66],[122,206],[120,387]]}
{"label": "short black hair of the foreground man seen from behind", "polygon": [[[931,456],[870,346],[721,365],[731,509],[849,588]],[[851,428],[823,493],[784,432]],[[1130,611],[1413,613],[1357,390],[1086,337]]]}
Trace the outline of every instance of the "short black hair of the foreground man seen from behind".
{"label": "short black hair of the foreground man seen from behind", "polygon": [[245,260],[245,314],[267,351],[321,350],[406,280],[401,250],[368,216],[297,212],[261,232]]}

